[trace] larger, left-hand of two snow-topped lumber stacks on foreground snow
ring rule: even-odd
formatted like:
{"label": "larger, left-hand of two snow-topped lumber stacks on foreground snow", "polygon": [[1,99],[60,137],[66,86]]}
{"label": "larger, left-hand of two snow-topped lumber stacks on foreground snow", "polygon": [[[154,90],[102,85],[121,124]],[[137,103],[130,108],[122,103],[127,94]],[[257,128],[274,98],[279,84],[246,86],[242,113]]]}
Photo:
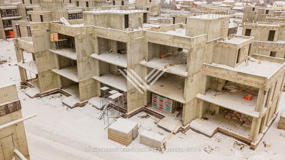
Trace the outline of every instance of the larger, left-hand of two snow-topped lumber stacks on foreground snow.
{"label": "larger, left-hand of two snow-topped lumber stacks on foreground snow", "polygon": [[138,125],[123,118],[108,127],[108,139],[128,146],[138,135]]}

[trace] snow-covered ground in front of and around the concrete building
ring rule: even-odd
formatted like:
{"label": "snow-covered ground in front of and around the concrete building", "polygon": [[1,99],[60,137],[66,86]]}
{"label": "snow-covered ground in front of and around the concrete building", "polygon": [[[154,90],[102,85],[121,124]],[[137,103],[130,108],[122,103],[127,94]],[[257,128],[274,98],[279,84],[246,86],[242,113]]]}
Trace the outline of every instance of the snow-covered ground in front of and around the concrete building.
{"label": "snow-covered ground in front of and around the concrete building", "polygon": [[[0,59],[8,59],[9,63],[0,65],[0,85],[15,83],[19,86],[19,71],[15,65],[16,56],[13,42],[0,40]],[[24,89],[18,87],[22,104],[23,116],[37,114],[26,120],[25,130],[31,159],[283,159],[285,157],[285,130],[277,129],[278,118],[270,127],[264,139],[271,140],[272,147],[265,148],[261,143],[253,151],[249,147],[242,150],[233,147],[234,139],[217,133],[213,138],[207,138],[188,130],[186,135],[178,133],[167,140],[167,148],[196,147],[196,151],[173,152],[93,152],[84,148],[143,148],[139,137],[128,147],[107,139],[107,130],[103,120],[98,121],[99,110],[90,104],[82,108],[67,109],[61,101],[60,94],[43,98],[31,99],[24,94]],[[279,109],[285,108],[285,94],[282,95]],[[141,119],[139,113],[131,117],[139,123],[139,132],[144,129],[160,132],[168,137],[169,133],[158,128],[158,120],[154,117]],[[263,141],[262,141],[263,142]],[[215,151],[211,154],[204,147],[211,146]]]}

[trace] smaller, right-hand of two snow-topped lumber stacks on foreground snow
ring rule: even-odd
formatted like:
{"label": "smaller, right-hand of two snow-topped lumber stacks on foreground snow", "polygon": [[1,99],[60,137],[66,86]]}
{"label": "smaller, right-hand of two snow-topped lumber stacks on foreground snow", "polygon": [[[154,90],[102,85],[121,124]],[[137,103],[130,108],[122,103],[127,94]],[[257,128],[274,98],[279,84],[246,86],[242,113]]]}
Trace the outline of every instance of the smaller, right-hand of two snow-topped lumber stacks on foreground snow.
{"label": "smaller, right-hand of two snow-topped lumber stacks on foreground snow", "polygon": [[148,130],[140,133],[140,143],[161,151],[164,151],[166,148],[165,137]]}

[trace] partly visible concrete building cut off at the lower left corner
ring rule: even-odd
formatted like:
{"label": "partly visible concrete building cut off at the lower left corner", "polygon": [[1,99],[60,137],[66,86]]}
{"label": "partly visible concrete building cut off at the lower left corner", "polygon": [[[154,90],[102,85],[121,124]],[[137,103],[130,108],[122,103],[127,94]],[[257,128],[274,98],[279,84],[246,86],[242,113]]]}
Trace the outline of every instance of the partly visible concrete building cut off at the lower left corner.
{"label": "partly visible concrete building cut off at the lower left corner", "polygon": [[0,159],[30,159],[21,103],[15,84],[0,86]]}

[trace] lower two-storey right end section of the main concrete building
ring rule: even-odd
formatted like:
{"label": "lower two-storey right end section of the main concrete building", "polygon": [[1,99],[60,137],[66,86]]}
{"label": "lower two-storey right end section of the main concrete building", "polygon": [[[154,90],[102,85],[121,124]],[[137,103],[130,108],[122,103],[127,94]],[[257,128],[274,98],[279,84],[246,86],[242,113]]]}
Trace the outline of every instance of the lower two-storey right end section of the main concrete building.
{"label": "lower two-storey right end section of the main concrete building", "polygon": [[[198,25],[200,30],[205,25],[201,25],[198,17],[189,17],[187,26],[192,27],[192,36],[198,35]],[[191,111],[197,112],[198,119],[193,120],[190,127],[209,137],[219,131],[255,148],[278,114],[284,60],[252,54],[252,37],[235,36],[215,41],[220,35],[211,38],[212,32],[207,34],[208,44],[200,62],[201,79],[196,83],[199,87],[194,106],[198,108]],[[255,100],[246,100],[248,95]],[[236,124],[240,125],[234,127]]]}

